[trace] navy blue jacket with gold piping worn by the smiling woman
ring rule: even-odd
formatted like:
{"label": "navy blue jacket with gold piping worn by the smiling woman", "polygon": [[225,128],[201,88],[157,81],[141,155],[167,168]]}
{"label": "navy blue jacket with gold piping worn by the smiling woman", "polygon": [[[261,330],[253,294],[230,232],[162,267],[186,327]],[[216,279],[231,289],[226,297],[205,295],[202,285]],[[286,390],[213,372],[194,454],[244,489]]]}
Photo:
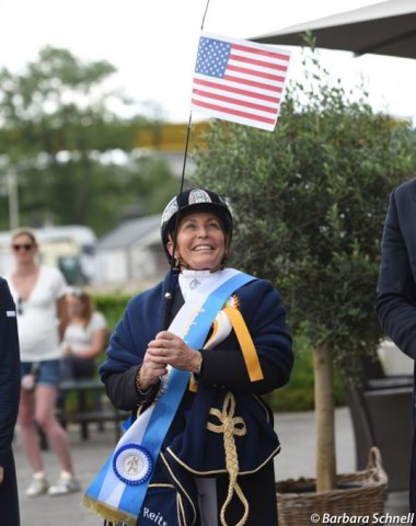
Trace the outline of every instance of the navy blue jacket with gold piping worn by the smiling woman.
{"label": "navy blue jacket with gold piping worn by the smiling woman", "polygon": [[[141,401],[135,388],[136,371],[148,342],[162,330],[167,283],[169,276],[154,288],[132,298],[111,338],[107,359],[100,373],[112,402],[120,409],[136,411]],[[188,494],[192,494],[190,474],[212,477],[212,472],[227,473],[223,435],[208,431],[207,422],[219,424],[209,411],[211,408],[221,410],[229,391],[235,398],[234,416],[241,416],[247,428],[246,435],[235,436],[240,474],[262,469],[279,451],[273,414],[259,395],[284,386],[289,379],[293,355],[285,321],[286,310],[277,290],[263,279],[244,285],[235,295],[257,351],[264,379],[250,380],[234,332],[218,347],[201,351],[204,365],[198,390],[196,393],[185,392],[161,455],[181,484],[188,484]],[[183,304],[177,277],[174,304],[173,316]]]}

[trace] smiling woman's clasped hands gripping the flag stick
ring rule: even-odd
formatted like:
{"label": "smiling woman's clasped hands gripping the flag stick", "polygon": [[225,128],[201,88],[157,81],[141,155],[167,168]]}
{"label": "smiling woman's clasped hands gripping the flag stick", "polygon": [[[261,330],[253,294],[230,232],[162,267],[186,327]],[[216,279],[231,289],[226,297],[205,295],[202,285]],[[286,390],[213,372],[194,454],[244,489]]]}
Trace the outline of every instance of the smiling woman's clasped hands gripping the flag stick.
{"label": "smiling woman's clasped hands gripping the flag stick", "polygon": [[199,351],[189,347],[181,338],[167,331],[159,332],[155,339],[149,342],[146,355],[155,364],[169,364],[190,373],[199,373],[203,361]]}

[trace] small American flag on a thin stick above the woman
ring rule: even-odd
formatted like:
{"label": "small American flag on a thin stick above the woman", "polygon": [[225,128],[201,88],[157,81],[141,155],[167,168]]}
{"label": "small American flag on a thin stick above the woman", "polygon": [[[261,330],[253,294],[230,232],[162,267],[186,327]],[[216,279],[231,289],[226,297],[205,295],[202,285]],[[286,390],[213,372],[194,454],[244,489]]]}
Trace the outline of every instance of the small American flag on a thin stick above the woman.
{"label": "small American flag on a thin stick above the woman", "polygon": [[203,33],[192,108],[273,132],[289,59],[284,49]]}

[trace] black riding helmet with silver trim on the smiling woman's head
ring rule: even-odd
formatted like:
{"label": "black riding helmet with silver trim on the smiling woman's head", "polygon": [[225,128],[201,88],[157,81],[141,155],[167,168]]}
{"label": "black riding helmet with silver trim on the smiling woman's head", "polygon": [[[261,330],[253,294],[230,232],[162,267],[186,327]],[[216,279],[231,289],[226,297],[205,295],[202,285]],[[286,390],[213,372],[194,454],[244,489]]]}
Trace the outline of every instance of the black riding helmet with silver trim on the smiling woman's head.
{"label": "black riding helmet with silver trim on the smiling woman's head", "polygon": [[232,236],[232,216],[226,201],[216,192],[205,188],[189,188],[181,194],[175,195],[166,205],[161,220],[161,236],[163,249],[167,261],[171,263],[171,255],[167,251],[169,236],[172,235],[176,227],[177,214],[183,219],[188,214],[198,211],[207,211],[215,214],[221,220],[224,232],[227,233],[228,244],[231,242]]}

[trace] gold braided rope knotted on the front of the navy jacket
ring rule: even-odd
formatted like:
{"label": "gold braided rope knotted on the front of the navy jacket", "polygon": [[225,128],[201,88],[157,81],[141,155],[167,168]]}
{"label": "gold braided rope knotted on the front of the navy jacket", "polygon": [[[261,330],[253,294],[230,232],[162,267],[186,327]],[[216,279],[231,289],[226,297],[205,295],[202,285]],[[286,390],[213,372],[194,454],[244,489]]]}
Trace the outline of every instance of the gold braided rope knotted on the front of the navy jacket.
{"label": "gold braided rope knotted on the front of the navy jacket", "polygon": [[[249,502],[245,499],[245,495],[240,488],[240,484],[236,480],[239,474],[239,458],[236,455],[236,447],[234,435],[243,436],[247,433],[245,422],[241,416],[234,416],[235,411],[235,398],[232,392],[228,392],[222,404],[222,411],[219,409],[211,408],[209,414],[217,416],[221,422],[220,425],[212,424],[208,422],[207,428],[213,433],[223,433],[224,439],[224,449],[226,449],[226,466],[227,471],[230,477],[230,482],[228,487],[228,494],[226,502],[221,507],[221,524],[222,526],[228,526],[226,522],[226,510],[231,502],[232,495],[235,492],[236,496],[240,499],[244,507],[244,515],[235,526],[243,526],[249,518]],[[234,526],[234,525],[233,525]]]}

